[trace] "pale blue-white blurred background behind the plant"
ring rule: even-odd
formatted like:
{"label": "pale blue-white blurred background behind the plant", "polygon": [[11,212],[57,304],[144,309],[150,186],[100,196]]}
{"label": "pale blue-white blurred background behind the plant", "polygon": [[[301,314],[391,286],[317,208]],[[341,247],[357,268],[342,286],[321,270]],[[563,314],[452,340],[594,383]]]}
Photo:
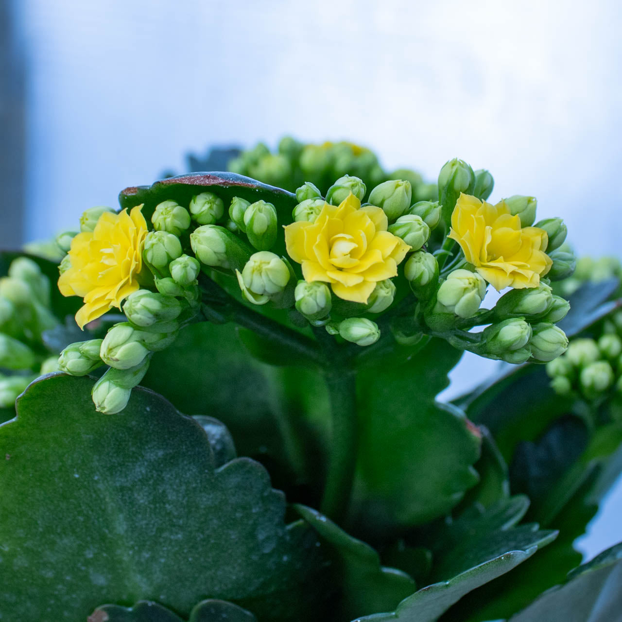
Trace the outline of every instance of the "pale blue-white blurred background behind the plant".
{"label": "pale blue-white blurred background behind the plant", "polygon": [[[491,200],[534,195],[622,255],[619,0],[0,0],[0,246],[77,225],[208,146],[348,139]],[[443,397],[481,381],[468,357]],[[580,545],[620,540],[622,483]]]}

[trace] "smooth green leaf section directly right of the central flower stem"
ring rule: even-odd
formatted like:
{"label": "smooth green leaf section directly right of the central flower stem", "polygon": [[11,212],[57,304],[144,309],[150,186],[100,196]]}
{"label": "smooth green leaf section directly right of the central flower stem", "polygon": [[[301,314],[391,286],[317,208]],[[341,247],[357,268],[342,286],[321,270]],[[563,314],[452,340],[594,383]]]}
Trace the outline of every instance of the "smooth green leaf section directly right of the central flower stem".
{"label": "smooth green leaf section directly right of the central flower stem", "polygon": [[461,354],[433,339],[403,364],[360,369],[359,522],[378,531],[420,524],[447,513],[477,483],[479,431],[434,400]]}

